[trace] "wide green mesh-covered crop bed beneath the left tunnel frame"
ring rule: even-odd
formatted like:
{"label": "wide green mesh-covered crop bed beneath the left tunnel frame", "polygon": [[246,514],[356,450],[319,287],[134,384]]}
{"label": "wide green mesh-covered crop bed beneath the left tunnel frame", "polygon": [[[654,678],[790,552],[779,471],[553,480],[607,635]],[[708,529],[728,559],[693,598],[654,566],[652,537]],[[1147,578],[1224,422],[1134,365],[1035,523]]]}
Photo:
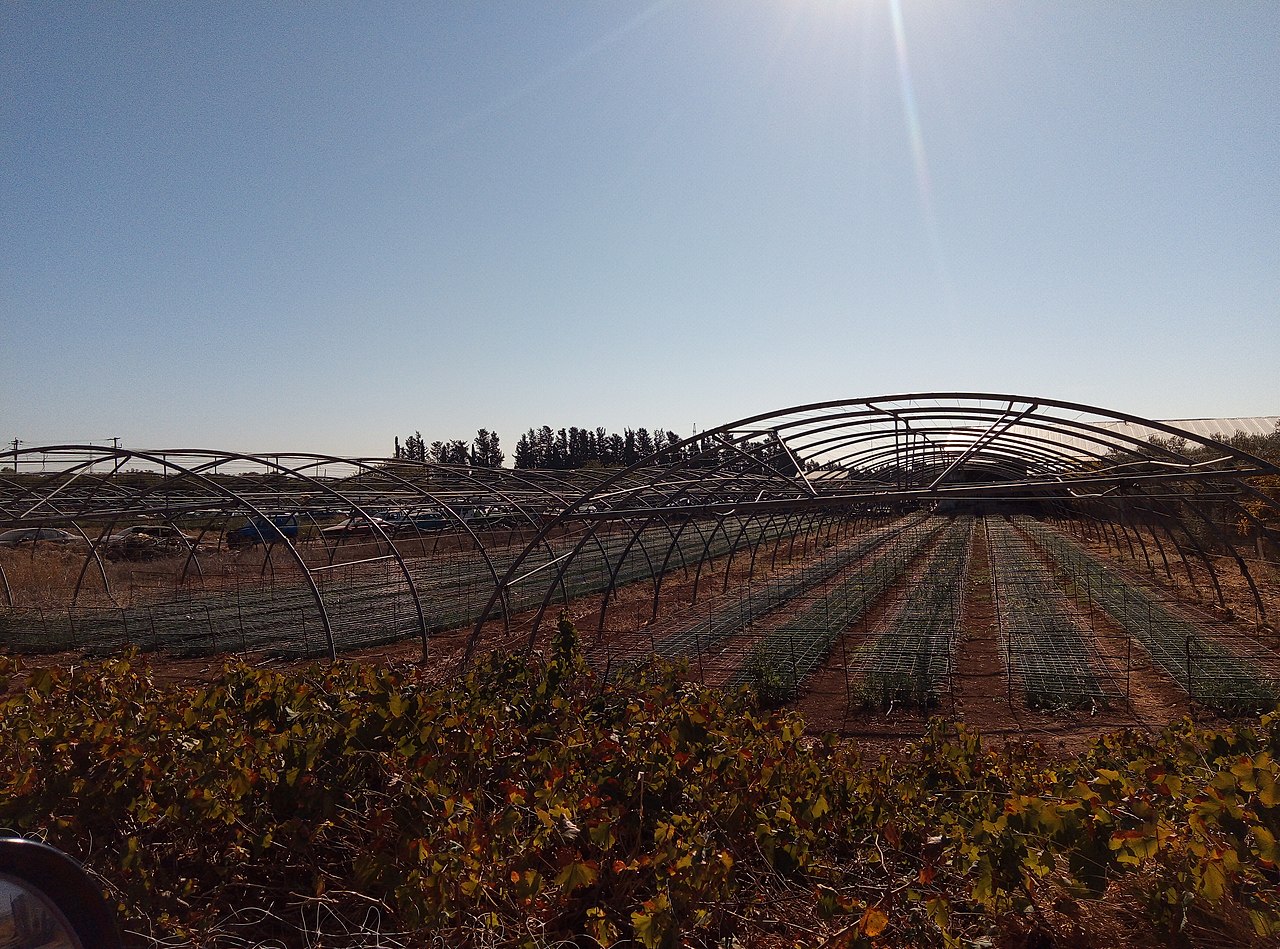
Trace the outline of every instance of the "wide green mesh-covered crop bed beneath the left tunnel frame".
{"label": "wide green mesh-covered crop bed beneath the left tunnel frame", "polygon": [[[614,570],[617,585],[682,570],[704,556],[724,556],[735,544],[780,539],[792,530],[794,525],[783,528],[781,521],[726,519],[709,538],[703,525],[692,523],[675,540],[666,528],[641,531],[637,539],[630,533],[602,534],[568,562],[552,596],[559,599],[600,592]],[[383,556],[317,570],[312,578],[337,648],[349,649],[411,639],[422,625],[438,631],[474,621],[494,592],[494,575],[502,576],[517,553],[518,548],[492,551],[492,570],[477,556],[408,558],[404,570]],[[512,612],[543,601],[562,553],[541,549],[526,558],[521,565],[525,581],[508,587]],[[319,654],[328,649],[316,597],[298,581],[251,589],[236,585],[143,607],[6,611],[0,613],[0,635],[9,648],[29,652],[111,651],[129,644],[174,654],[257,649]]]}

